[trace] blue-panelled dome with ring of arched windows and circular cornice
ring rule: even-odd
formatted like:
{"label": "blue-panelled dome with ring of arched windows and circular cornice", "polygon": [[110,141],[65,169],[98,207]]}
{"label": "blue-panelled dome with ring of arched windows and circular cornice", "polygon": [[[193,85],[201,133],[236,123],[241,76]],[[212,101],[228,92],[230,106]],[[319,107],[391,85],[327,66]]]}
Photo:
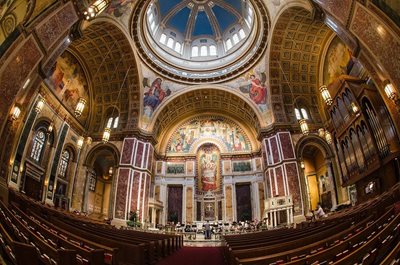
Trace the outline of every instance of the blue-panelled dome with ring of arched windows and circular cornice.
{"label": "blue-panelled dome with ring of arched windows and circular cornice", "polygon": [[262,55],[266,14],[259,0],[142,1],[132,29],[142,58],[162,74],[187,83],[222,81]]}

